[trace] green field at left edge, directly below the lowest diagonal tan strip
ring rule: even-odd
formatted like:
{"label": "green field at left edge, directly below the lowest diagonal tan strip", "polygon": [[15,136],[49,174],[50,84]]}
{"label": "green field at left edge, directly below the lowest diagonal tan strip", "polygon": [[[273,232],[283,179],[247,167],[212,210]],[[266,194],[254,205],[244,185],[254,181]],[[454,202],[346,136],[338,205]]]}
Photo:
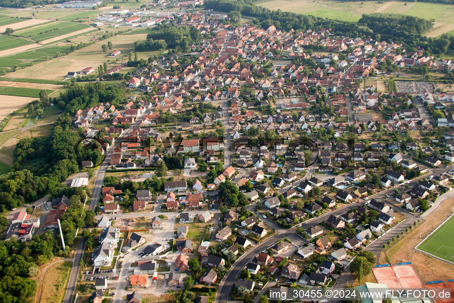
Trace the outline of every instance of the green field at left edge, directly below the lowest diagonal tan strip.
{"label": "green field at left edge, directly below the lowest diagonal tan strip", "polygon": [[29,50],[16,55],[0,58],[0,68],[11,68],[14,65],[19,67],[30,66],[30,62],[38,63],[45,60],[46,56],[55,57],[56,52],[62,55],[70,50],[70,46],[49,46],[37,50]]}

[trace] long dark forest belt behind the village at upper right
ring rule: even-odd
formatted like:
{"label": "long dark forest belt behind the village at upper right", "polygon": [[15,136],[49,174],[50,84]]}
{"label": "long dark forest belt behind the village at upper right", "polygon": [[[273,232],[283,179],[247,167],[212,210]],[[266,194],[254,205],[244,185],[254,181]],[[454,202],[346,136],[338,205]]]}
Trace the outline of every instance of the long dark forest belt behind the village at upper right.
{"label": "long dark forest belt behind the village at upper right", "polygon": [[222,12],[237,10],[242,15],[257,18],[263,28],[271,25],[277,29],[289,31],[291,29],[306,31],[308,29],[330,28],[334,35],[348,35],[350,37],[371,37],[378,41],[400,42],[407,50],[423,47],[428,55],[442,55],[448,48],[454,48],[453,35],[441,35],[437,38],[423,36],[424,32],[432,29],[432,20],[398,14],[374,13],[362,15],[358,23],[323,19],[310,15],[269,10],[256,6],[253,1],[234,0],[206,0],[206,9]]}

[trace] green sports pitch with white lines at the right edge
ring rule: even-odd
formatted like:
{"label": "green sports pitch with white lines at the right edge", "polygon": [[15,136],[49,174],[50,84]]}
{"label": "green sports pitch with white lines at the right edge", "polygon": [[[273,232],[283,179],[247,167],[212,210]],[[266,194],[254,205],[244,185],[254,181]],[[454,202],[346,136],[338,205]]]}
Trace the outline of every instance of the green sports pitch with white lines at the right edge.
{"label": "green sports pitch with white lines at the right edge", "polygon": [[444,260],[454,262],[454,241],[449,240],[452,239],[453,233],[454,216],[432,233],[430,237],[419,246],[419,249]]}

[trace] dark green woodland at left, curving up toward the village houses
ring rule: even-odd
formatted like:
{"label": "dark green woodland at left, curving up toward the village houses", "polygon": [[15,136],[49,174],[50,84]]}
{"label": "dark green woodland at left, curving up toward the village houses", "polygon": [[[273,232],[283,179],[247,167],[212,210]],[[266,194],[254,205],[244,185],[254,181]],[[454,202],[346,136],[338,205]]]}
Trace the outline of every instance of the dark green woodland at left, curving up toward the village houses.
{"label": "dark green woodland at left, curving up toward the village houses", "polygon": [[[35,201],[44,194],[59,196],[61,183],[79,169],[76,149],[81,137],[71,128],[74,113],[99,102],[115,104],[123,94],[122,89],[101,83],[75,84],[62,92],[59,105],[69,113],[55,121],[52,135],[21,139],[16,145],[15,171],[0,178],[0,211]],[[68,194],[68,197],[85,198],[81,194]]]}

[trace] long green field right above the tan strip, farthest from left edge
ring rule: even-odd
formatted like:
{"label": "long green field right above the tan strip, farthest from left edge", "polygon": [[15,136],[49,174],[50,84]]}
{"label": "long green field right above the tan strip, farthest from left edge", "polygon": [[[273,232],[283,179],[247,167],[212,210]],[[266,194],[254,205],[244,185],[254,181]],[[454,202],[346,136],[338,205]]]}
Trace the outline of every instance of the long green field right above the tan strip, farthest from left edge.
{"label": "long green field right above the tan strip, farthest from left edge", "polygon": [[88,27],[89,25],[85,24],[58,21],[44,26],[34,27],[29,30],[22,30],[18,32],[17,35],[39,42],[61,35],[66,35],[77,30],[83,30]]}

